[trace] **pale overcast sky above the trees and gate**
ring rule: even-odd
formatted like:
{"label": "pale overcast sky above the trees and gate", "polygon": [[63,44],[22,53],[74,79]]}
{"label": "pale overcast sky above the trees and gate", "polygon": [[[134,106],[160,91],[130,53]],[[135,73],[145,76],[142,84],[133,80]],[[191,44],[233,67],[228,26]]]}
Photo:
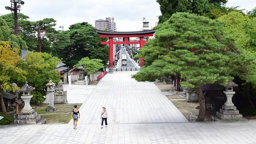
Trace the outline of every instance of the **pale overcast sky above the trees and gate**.
{"label": "pale overcast sky above the trees and gate", "polygon": [[[89,22],[114,17],[118,31],[139,31],[142,18],[154,19],[160,15],[156,0],[24,0],[23,14],[31,21],[54,18],[57,26],[68,30],[70,24]],[[10,6],[10,0],[0,0],[0,14],[8,14],[4,6]],[[228,0],[226,6],[240,6],[248,11],[256,7],[256,0]]]}

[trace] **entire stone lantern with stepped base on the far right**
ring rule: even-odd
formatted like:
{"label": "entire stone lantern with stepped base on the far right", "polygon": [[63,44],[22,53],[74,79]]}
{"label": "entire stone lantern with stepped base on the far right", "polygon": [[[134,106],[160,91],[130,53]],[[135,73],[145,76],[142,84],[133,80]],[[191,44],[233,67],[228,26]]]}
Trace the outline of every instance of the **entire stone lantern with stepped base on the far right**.
{"label": "entire stone lantern with stepped base on the far right", "polygon": [[218,118],[212,116],[213,121],[226,121],[226,120],[242,120],[243,116],[239,113],[239,110],[236,109],[234,103],[232,102],[232,97],[236,93],[233,91],[233,87],[237,87],[238,85],[234,82],[230,81],[226,84],[226,89],[224,94],[226,94],[227,100],[220,108],[220,112],[216,112]]}

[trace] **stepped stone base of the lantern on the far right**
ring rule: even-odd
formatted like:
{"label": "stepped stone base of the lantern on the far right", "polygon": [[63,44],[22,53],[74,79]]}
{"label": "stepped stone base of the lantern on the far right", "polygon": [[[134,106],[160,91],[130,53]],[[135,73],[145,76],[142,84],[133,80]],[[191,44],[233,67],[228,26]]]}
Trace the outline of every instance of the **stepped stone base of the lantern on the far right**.
{"label": "stepped stone base of the lantern on the far right", "polygon": [[236,106],[225,106],[220,108],[220,112],[216,112],[216,116],[211,116],[212,121],[229,121],[242,120],[243,116],[236,110]]}

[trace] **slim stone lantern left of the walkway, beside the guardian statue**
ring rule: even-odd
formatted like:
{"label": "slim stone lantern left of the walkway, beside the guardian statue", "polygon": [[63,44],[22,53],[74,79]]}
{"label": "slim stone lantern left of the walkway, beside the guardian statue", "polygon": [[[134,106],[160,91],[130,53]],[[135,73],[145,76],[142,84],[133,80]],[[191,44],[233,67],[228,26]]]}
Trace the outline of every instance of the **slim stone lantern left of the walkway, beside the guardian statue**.
{"label": "slim stone lantern left of the walkway, beside the guardian statue", "polygon": [[55,84],[52,82],[52,80],[50,79],[50,81],[46,84],[47,86],[47,97],[49,100],[49,105],[46,107],[46,112],[52,112],[52,111],[56,111],[57,109],[54,107],[54,87]]}

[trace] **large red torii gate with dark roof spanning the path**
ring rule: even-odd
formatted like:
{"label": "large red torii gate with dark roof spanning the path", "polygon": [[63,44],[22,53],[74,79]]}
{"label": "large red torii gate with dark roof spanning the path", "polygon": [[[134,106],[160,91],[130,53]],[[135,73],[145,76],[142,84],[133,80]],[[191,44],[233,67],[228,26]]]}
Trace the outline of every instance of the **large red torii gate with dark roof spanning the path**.
{"label": "large red torii gate with dark roof spanning the path", "polygon": [[[100,44],[109,45],[109,61],[108,67],[109,72],[113,72],[113,44],[140,44],[140,49],[143,48],[143,45],[146,44],[144,37],[153,36],[155,33],[154,30],[144,30],[138,32],[107,32],[103,30],[96,30],[100,37],[107,37],[109,40],[107,42],[100,42]],[[130,42],[128,38],[130,37],[139,37],[140,41]],[[115,42],[113,38],[124,38],[122,42]],[[140,58],[140,67],[143,67],[144,58]]]}

